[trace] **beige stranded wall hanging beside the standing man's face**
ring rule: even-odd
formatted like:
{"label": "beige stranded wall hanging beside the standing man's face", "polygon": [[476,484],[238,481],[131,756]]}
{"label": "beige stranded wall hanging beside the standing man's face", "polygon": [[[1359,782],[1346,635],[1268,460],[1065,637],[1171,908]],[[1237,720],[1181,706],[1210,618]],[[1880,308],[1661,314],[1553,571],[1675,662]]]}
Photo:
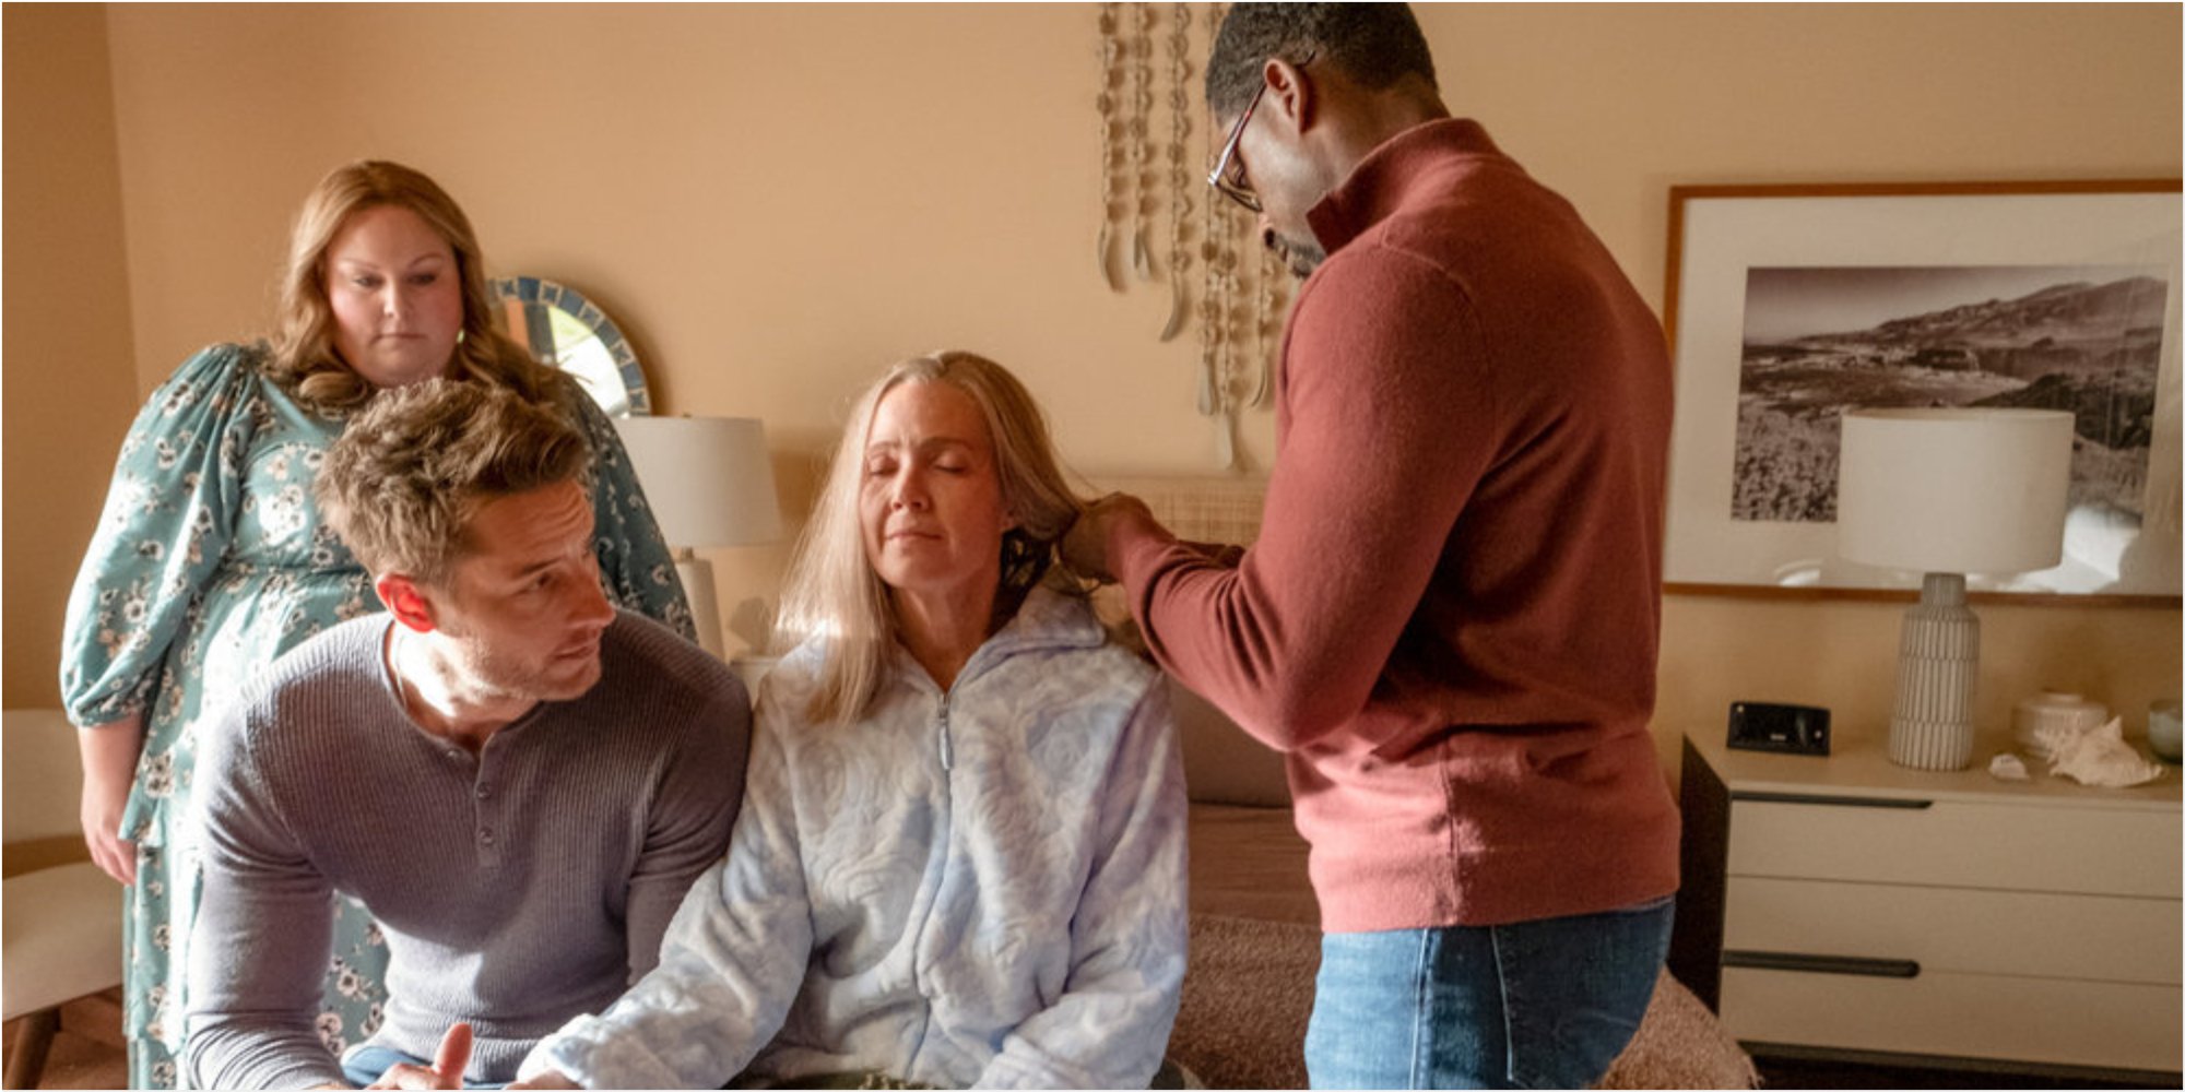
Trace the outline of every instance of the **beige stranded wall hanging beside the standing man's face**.
{"label": "beige stranded wall hanging beside the standing man's face", "polygon": [[[1193,11],[1204,17],[1193,20]],[[1261,247],[1254,216],[1206,186],[1206,168],[1228,133],[1210,131],[1195,76],[1221,13],[1224,4],[1099,7],[1099,273],[1117,293],[1132,282],[1167,280],[1169,314],[1160,341],[1173,341],[1197,319],[1191,382],[1197,408],[1215,422],[1217,461],[1243,470],[1237,419],[1267,404],[1289,275]],[[1160,155],[1154,151],[1156,107],[1167,114]],[[1167,232],[1158,229],[1162,216]],[[1160,236],[1167,236],[1165,258],[1156,253]],[[1197,306],[1191,304],[1193,256]]]}

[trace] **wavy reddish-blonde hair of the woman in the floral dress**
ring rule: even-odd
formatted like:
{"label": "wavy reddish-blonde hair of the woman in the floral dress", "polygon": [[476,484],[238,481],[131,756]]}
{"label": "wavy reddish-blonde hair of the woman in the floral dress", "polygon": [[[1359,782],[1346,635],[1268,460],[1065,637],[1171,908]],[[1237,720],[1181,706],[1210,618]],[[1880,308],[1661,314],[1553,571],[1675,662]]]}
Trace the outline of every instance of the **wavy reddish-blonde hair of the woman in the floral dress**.
{"label": "wavy reddish-blonde hair of the woman in the floral dress", "polygon": [[354,411],[374,387],[334,352],[334,308],[326,297],[326,249],[350,216],[395,205],[415,212],[454,251],[463,288],[463,332],[457,339],[448,378],[507,387],[531,402],[568,406],[572,384],[540,365],[494,325],[494,295],[485,282],[485,256],[461,205],[430,177],[387,159],[358,159],[319,179],[297,212],[288,236],[288,266],[280,282],[280,312],[264,363],[267,376],[299,402],[321,411]]}

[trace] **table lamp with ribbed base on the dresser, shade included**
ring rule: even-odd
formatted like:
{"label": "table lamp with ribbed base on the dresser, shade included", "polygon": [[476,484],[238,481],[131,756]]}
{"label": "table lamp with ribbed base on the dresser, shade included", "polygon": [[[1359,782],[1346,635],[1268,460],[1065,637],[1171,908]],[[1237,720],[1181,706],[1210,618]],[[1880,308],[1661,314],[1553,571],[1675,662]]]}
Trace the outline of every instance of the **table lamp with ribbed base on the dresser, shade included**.
{"label": "table lamp with ribbed base on the dresser, shade included", "polygon": [[1846,411],[1835,480],[1844,559],[1923,572],[1897,653],[1890,762],[1973,760],[1980,618],[1966,572],[2028,572],[2063,559],[2071,415],[2032,408]]}

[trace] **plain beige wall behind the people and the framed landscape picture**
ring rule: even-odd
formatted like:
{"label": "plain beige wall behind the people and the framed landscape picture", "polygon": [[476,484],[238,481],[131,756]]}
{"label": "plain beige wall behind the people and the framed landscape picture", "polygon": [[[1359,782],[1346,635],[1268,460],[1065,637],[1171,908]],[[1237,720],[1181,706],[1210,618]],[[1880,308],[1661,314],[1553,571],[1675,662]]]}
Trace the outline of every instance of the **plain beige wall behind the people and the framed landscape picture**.
{"label": "plain beige wall behind the people and the framed landscape picture", "polygon": [[[1451,105],[1567,192],[1654,301],[1674,183],[2181,173],[2174,4],[1420,15]],[[135,306],[133,356],[101,363],[138,391],[256,330],[295,201],[382,155],[439,177],[503,271],[601,299],[664,411],[765,417],[791,507],[852,387],[937,345],[1016,367],[1082,470],[1213,467],[1191,339],[1156,343],[1165,297],[1095,275],[1090,7],[155,4],[109,22]],[[9,183],[13,144],[11,127]],[[1265,415],[1245,450],[1269,456]],[[9,542],[11,592],[66,581],[17,570]],[[734,607],[771,594],[780,550],[717,561]],[[15,660],[48,653],[13,640],[13,596],[7,612],[15,703]],[[1665,749],[1720,729],[1731,699],[1883,719],[1897,616],[1672,596]],[[2141,710],[2178,692],[2176,609],[1984,616],[1991,721],[2036,684]]]}

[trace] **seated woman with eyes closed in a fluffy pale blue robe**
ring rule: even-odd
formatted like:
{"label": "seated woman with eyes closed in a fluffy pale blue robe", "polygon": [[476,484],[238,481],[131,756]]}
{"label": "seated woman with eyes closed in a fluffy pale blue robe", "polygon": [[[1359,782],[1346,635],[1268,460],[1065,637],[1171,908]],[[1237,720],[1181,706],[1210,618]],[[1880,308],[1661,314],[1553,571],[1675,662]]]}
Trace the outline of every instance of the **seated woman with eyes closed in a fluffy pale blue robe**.
{"label": "seated woman with eyes closed in a fluffy pale blue robe", "polygon": [[1158,675],[1055,561],[1079,507],[1001,365],[865,391],[728,856],[533,1088],[1147,1085],[1184,974],[1182,764]]}

